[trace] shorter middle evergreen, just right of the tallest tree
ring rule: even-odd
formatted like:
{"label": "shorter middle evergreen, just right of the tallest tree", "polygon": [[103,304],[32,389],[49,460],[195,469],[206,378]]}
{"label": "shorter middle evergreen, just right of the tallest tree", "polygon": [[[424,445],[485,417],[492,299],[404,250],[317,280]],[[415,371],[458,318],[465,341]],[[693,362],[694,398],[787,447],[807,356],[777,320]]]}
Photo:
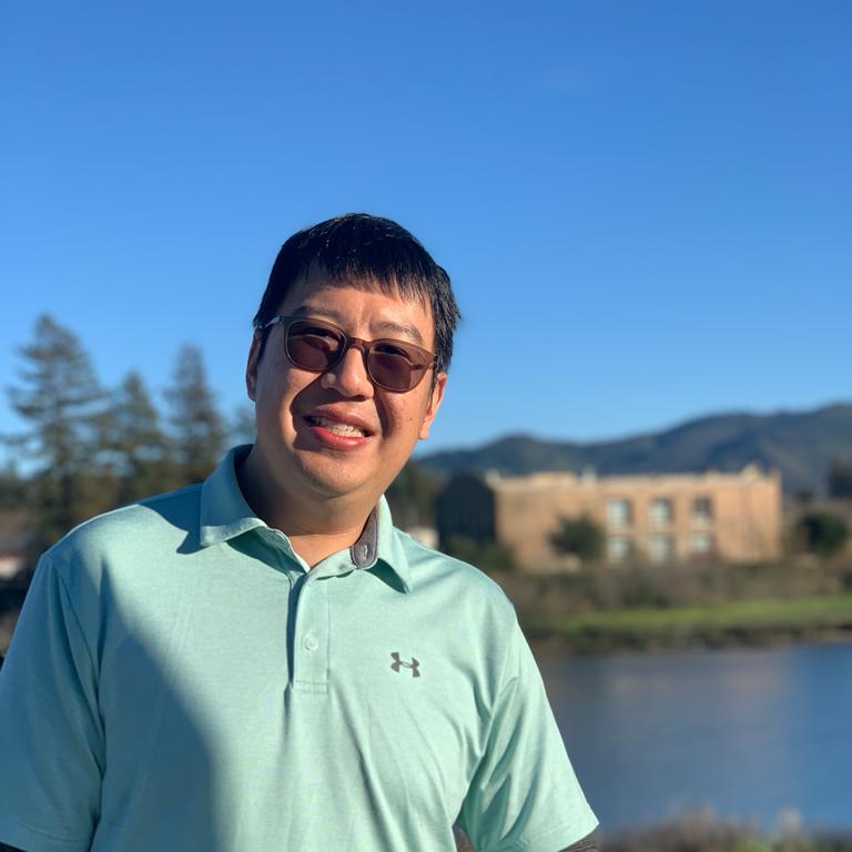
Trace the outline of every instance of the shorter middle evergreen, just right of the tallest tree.
{"label": "shorter middle evergreen, just right of the tallest tree", "polygon": [[160,414],[135,372],[129,373],[113,394],[106,446],[120,481],[119,504],[133,503],[175,485]]}

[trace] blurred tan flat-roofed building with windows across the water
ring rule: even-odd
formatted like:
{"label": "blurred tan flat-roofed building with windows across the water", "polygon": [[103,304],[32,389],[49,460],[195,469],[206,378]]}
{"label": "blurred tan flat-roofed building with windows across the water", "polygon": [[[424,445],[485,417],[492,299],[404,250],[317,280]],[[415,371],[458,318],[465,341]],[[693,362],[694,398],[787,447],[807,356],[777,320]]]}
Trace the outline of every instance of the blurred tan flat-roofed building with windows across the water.
{"label": "blurred tan flat-roofed building with windows across the water", "polygon": [[584,516],[605,530],[610,564],[763,561],[780,555],[781,477],[753,466],[739,474],[466,474],[436,503],[443,544],[453,536],[498,541],[528,570],[569,568],[550,536],[562,518]]}

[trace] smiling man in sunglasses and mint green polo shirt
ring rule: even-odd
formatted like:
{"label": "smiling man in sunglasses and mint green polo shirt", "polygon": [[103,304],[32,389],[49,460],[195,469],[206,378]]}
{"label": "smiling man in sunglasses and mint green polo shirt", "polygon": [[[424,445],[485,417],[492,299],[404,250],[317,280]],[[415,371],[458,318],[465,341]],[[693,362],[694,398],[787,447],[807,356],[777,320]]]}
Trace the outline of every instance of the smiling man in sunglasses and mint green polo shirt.
{"label": "smiling man in sunglasses and mint green polo shirt", "polygon": [[[292,236],[255,317],[253,446],[41,559],[0,676],[27,852],[594,849],[511,606],[394,529],[458,311],[366,215]],[[574,844],[574,845],[572,845]]]}

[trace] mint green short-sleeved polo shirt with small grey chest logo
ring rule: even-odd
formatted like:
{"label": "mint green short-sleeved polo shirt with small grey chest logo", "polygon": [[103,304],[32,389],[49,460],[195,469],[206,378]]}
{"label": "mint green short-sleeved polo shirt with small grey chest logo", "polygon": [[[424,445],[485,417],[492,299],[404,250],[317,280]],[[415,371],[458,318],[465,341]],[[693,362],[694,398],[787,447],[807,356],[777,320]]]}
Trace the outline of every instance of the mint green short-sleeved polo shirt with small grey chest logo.
{"label": "mint green short-sleeved polo shirt with small grey chest logo", "polygon": [[41,559],[0,673],[0,841],[28,852],[556,852],[586,803],[500,589],[395,529],[308,570],[203,484]]}

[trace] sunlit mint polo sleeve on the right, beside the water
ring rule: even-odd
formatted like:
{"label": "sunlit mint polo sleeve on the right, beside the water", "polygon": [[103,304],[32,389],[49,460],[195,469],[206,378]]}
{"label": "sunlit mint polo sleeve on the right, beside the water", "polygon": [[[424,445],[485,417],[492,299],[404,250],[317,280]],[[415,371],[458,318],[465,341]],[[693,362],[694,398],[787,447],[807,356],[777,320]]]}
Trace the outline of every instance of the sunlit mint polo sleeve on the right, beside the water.
{"label": "sunlit mint polo sleeve on the right, beside the water", "polygon": [[458,823],[477,852],[558,852],[598,824],[517,622],[486,751]]}

